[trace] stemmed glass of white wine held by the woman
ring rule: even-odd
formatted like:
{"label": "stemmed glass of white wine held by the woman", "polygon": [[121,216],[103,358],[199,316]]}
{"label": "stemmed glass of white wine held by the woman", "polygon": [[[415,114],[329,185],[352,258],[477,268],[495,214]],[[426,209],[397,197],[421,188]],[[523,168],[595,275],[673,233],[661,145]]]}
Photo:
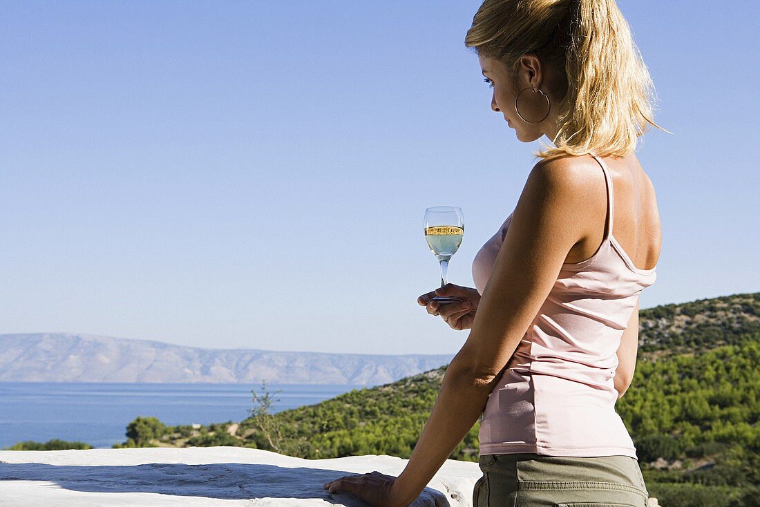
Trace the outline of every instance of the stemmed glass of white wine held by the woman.
{"label": "stemmed glass of white wine held by the woman", "polygon": [[[433,206],[425,210],[425,240],[441,263],[441,287],[448,284],[448,261],[457,252],[464,236],[464,215],[456,206]],[[439,305],[460,302],[456,297],[435,296]]]}

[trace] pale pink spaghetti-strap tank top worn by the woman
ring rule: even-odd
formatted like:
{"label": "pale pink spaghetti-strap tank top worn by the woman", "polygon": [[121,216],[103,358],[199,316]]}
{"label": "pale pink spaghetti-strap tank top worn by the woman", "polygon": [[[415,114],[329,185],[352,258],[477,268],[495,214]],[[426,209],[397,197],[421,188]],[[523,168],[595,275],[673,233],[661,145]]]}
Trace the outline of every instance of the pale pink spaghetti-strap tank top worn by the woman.
{"label": "pale pink spaghetti-strap tank top worn by the woman", "polygon": [[[550,456],[636,458],[615,411],[613,377],[622,333],[652,269],[639,269],[612,234],[613,182],[603,160],[609,227],[597,252],[562,265],[554,287],[524,334],[480,423],[480,454],[530,452]],[[473,261],[483,293],[511,215]]]}

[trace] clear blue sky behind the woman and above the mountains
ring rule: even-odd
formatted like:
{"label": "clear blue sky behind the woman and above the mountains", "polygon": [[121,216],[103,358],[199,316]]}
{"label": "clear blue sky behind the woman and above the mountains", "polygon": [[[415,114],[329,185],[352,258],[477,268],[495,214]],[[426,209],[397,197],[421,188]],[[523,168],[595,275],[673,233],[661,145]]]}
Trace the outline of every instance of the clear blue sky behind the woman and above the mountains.
{"label": "clear blue sky behind the woman and above the mountains", "polygon": [[[536,144],[489,109],[480,2],[0,3],[0,333],[454,353],[416,305]],[[760,290],[756,2],[619,2],[654,78],[663,249],[641,307]]]}

